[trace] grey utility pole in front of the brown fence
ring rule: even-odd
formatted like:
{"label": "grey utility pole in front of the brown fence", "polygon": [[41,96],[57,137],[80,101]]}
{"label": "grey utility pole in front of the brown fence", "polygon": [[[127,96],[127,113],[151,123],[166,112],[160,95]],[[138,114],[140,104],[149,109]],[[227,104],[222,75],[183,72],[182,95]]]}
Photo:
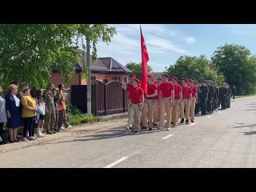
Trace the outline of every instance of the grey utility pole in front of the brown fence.
{"label": "grey utility pole in front of the brown fence", "polygon": [[86,64],[88,67],[87,79],[87,114],[91,114],[91,83],[90,83],[90,38],[86,37]]}

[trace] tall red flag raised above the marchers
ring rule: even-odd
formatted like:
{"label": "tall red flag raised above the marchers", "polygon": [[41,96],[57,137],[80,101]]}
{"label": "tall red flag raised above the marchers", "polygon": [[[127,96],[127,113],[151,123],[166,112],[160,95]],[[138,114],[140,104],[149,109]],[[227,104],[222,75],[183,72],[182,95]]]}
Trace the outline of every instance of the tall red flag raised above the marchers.
{"label": "tall red flag raised above the marchers", "polygon": [[141,29],[141,48],[142,48],[142,90],[145,94],[147,94],[147,62],[150,61],[149,54],[146,50],[146,44],[145,40],[142,34],[142,26],[140,26]]}

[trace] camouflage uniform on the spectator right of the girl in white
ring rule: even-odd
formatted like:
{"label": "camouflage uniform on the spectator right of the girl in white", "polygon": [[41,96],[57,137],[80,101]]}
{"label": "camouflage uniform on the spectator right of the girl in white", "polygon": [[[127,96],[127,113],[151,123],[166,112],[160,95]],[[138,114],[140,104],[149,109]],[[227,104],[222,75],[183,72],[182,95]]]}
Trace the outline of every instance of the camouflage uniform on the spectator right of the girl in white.
{"label": "camouflage uniform on the spectator right of the girl in white", "polygon": [[54,95],[50,91],[44,91],[43,98],[46,102],[46,116],[45,116],[45,127],[46,133],[50,134],[50,132],[54,131],[54,124],[56,121],[56,114],[55,114],[55,106],[54,106]]}

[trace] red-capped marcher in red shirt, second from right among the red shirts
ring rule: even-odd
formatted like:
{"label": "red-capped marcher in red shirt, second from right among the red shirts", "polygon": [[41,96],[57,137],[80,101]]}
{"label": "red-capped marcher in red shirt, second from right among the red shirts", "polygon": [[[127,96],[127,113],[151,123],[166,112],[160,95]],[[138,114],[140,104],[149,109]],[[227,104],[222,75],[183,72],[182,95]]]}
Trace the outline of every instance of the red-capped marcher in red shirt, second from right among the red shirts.
{"label": "red-capped marcher in red shirt, second from right among the red shirts", "polygon": [[192,90],[189,86],[187,86],[188,80],[186,78],[182,78],[182,104],[181,104],[181,114],[182,120],[180,123],[184,122],[185,114],[184,110],[186,110],[186,124],[190,122],[190,102],[192,99]]}

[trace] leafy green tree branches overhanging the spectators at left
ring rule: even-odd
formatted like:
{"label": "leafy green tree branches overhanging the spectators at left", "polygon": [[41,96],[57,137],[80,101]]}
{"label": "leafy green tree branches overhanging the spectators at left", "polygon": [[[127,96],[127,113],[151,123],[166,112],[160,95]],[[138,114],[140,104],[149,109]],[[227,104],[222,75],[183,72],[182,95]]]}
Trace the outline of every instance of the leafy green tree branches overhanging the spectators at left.
{"label": "leafy green tree branches overhanging the spectators at left", "polygon": [[44,87],[51,66],[62,73],[65,82],[71,82],[79,57],[78,39],[90,38],[95,60],[98,39],[109,43],[115,33],[105,24],[0,24],[1,82],[7,86],[15,80]]}

